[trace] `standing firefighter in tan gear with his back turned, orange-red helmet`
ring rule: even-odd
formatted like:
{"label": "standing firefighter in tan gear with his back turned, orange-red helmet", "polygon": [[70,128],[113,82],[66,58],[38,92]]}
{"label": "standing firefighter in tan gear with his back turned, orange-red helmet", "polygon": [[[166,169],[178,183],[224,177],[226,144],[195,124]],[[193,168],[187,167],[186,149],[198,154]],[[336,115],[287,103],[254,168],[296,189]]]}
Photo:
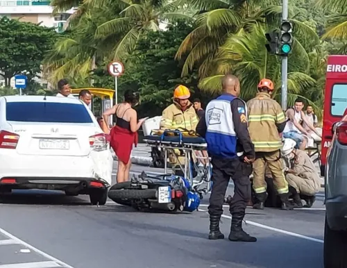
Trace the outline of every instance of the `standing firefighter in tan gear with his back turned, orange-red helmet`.
{"label": "standing firefighter in tan gear with his back turned, orange-red helmet", "polygon": [[285,128],[286,119],[280,104],[271,99],[273,82],[262,79],[258,84],[258,92],[254,99],[247,103],[249,134],[255,147],[253,163],[253,190],[255,204],[253,208],[264,209],[268,196],[266,193],[265,167],[269,167],[273,183],[280,196],[282,210],[292,210],[289,202],[288,183],[283,173],[281,159],[282,140],[279,133]]}

